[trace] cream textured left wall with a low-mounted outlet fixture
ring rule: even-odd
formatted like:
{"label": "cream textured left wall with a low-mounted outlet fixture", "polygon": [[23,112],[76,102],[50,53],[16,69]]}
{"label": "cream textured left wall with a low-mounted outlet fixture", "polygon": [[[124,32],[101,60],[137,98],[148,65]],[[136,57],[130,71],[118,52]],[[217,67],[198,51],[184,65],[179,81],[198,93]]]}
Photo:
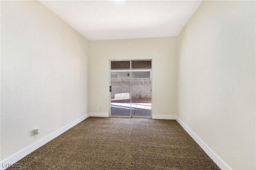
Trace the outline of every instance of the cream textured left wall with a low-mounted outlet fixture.
{"label": "cream textured left wall with a low-mounted outlet fixture", "polygon": [[1,1],[1,161],[88,113],[87,47],[40,2]]}

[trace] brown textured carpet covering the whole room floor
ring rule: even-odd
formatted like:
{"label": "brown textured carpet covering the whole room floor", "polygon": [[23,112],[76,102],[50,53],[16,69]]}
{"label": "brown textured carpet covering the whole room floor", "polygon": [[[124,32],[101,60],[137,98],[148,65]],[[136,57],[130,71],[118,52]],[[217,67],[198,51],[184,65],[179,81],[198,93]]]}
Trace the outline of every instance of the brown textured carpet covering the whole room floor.
{"label": "brown textured carpet covering the whole room floor", "polygon": [[220,169],[175,120],[89,117],[8,170]]}

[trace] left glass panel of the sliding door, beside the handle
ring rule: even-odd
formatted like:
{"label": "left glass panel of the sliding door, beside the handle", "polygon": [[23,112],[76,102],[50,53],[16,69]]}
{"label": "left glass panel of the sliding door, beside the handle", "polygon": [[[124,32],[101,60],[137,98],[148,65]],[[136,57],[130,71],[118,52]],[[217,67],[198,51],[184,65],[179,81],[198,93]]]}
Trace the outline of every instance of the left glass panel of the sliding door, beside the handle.
{"label": "left glass panel of the sliding door, beside the handle", "polygon": [[111,61],[111,115],[131,116],[130,61]]}

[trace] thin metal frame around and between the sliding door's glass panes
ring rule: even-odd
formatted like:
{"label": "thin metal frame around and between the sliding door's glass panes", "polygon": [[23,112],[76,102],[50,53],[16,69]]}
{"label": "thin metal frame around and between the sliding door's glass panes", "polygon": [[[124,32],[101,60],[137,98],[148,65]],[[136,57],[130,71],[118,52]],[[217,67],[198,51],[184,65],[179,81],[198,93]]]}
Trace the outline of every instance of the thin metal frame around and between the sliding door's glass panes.
{"label": "thin metal frame around and between the sliding door's glass panes", "polygon": [[153,113],[153,109],[152,109],[152,103],[153,103],[153,59],[109,59],[109,86],[111,86],[111,61],[130,61],[130,75],[132,75],[132,61],[147,61],[147,60],[151,60],[151,115],[149,116],[132,116],[132,78],[130,80],[130,116],[119,116],[119,115],[111,115],[111,92],[108,91],[109,93],[109,117],[123,117],[123,118],[147,118],[147,119],[152,119],[152,113]]}

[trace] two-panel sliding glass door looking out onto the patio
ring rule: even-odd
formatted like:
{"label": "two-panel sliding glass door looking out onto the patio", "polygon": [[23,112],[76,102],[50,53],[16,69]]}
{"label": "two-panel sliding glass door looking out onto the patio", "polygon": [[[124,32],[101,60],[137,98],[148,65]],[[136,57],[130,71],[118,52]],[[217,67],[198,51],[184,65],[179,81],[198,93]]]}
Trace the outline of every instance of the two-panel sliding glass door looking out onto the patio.
{"label": "two-panel sliding glass door looking out onto the patio", "polygon": [[151,60],[110,61],[110,116],[151,117]]}

